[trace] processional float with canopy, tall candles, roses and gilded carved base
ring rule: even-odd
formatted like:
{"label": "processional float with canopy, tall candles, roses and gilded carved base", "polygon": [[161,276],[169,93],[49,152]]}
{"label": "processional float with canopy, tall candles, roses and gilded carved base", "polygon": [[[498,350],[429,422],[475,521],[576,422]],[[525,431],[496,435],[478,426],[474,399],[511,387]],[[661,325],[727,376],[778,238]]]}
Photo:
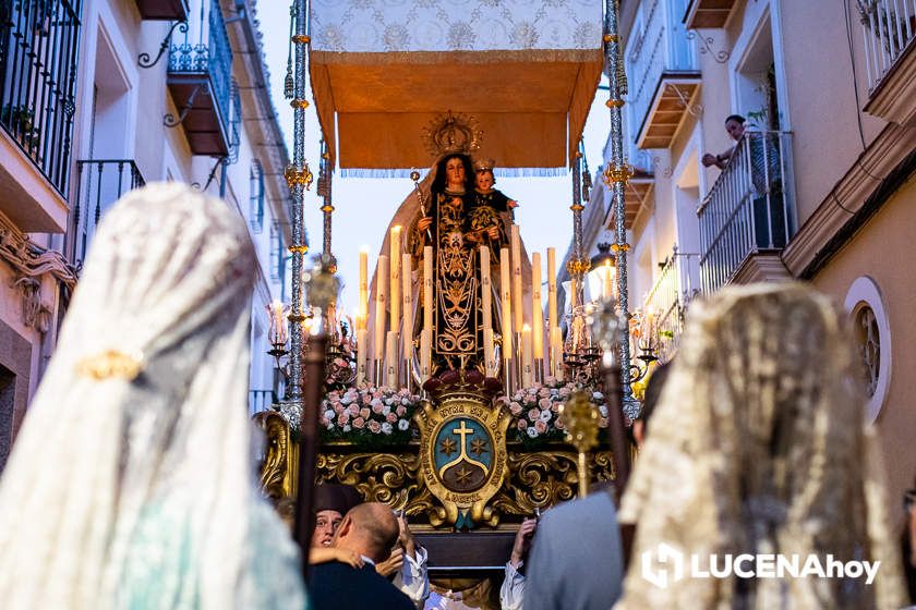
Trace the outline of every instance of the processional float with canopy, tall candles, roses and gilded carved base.
{"label": "processional float with canopy, tall candles, roses and gilded carved base", "polygon": [[[384,0],[293,2],[287,93],[296,142],[286,174],[293,198],[292,303],[272,313],[272,353],[278,363],[289,357],[287,395],[257,420],[269,439],[264,491],[278,505],[298,497],[296,532],[304,546],[312,485],[342,483],[366,501],[405,511],[430,548],[431,573],[467,575],[504,564],[525,516],[586,493],[590,481],[624,483],[630,448],[623,411],[634,415],[622,321],[626,234],[618,223],[618,298],[587,308],[579,152],[605,53],[607,106],[622,141],[617,8],[613,0],[604,13],[600,0],[535,4],[481,2],[469,11]],[[305,272],[309,307],[299,281],[312,182],[304,158],[306,77],[323,132],[325,212],[323,255]],[[468,206],[480,198],[449,194],[450,182],[436,190],[435,171],[420,180],[413,169],[435,168],[453,152],[482,167],[496,159],[502,175],[572,170],[572,316],[565,342],[553,248],[544,319],[540,254],[529,259],[510,211],[499,211],[505,240],[484,245],[466,232]],[[605,180],[622,207],[627,166],[622,145],[612,152]],[[360,307],[343,324],[334,309],[330,241],[330,176],[338,167],[345,175],[413,180],[405,181],[407,198],[371,283],[367,255],[360,256]],[[529,203],[545,213],[555,204]],[[420,229],[423,217],[433,221]]]}

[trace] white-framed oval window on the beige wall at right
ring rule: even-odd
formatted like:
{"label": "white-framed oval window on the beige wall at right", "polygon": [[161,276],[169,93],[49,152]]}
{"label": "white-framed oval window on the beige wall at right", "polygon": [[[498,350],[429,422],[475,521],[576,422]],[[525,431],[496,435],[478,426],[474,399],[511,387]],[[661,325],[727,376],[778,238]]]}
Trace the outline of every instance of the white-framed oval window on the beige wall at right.
{"label": "white-framed oval window on the beige wall at right", "polygon": [[891,377],[891,328],[884,301],[875,280],[857,278],[846,293],[846,310],[861,358],[861,381],[868,398],[866,415],[873,422],[888,398]]}

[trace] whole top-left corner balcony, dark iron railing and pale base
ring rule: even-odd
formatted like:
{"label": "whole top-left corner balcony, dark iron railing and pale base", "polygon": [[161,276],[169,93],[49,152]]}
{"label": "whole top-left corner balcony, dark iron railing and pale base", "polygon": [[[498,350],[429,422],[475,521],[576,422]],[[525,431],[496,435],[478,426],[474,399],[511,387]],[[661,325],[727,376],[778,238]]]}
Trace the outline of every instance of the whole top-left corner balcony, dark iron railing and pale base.
{"label": "whole top-left corner balcony, dark iron railing and pale base", "polygon": [[62,232],[75,112],[81,0],[0,9],[0,211]]}

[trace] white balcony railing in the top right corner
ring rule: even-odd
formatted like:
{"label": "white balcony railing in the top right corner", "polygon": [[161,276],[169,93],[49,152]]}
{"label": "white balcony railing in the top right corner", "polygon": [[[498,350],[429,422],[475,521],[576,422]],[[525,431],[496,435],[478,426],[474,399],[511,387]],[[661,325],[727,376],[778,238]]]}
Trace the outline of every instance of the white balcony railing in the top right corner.
{"label": "white balcony railing in the top right corner", "polygon": [[913,0],[856,0],[865,41],[868,85],[875,89],[916,38]]}

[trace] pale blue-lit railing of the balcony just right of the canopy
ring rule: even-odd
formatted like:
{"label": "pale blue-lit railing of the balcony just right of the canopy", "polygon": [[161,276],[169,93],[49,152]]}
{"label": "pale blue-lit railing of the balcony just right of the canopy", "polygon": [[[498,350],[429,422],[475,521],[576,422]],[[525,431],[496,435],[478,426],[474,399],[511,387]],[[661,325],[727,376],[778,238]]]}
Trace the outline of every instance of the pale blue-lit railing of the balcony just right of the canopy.
{"label": "pale blue-lit railing of the balcony just right of the canopy", "polygon": [[[637,137],[663,74],[699,71],[696,42],[687,38],[680,16],[684,0],[643,0],[636,35],[627,45],[629,134]],[[685,106],[687,100],[685,100]]]}

